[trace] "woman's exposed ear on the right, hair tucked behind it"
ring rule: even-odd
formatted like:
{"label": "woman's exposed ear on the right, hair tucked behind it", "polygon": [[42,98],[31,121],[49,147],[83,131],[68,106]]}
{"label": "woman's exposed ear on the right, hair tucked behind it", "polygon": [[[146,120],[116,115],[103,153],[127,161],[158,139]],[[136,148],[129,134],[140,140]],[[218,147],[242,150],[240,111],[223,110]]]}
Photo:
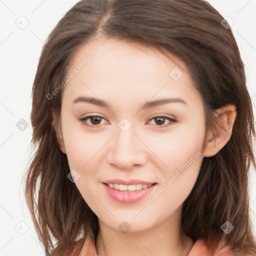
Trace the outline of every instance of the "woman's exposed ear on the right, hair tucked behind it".
{"label": "woman's exposed ear on the right, hair tucked behind it", "polygon": [[[214,116],[217,124],[215,126],[215,136],[208,131],[203,149],[203,156],[215,155],[229,140],[236,117],[236,107],[232,104],[224,105],[215,110]],[[221,126],[223,128],[221,128]]]}

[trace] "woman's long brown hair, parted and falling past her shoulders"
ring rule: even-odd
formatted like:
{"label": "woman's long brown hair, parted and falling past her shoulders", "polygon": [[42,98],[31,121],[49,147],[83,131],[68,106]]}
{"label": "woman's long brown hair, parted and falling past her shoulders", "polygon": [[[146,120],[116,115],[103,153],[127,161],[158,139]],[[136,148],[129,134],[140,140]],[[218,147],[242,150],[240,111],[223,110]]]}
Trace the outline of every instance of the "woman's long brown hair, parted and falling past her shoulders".
{"label": "woman's long brown hair, parted and falling past her shoulders", "polygon": [[[256,254],[248,194],[249,168],[255,168],[252,103],[235,38],[222,19],[203,0],[81,0],[57,23],[33,82],[30,143],[36,148],[24,188],[46,255],[70,255],[77,240],[90,232],[95,238],[98,232],[97,216],[67,178],[67,157],[57,142],[62,90],[50,99],[47,95],[67,75],[74,52],[99,34],[153,45],[184,61],[204,102],[207,130],[214,131],[215,109],[236,106],[229,141],[203,158],[183,203],[181,230],[193,240],[206,239],[213,248],[224,239],[234,255]],[[234,226],[229,234],[220,228],[225,221]]]}

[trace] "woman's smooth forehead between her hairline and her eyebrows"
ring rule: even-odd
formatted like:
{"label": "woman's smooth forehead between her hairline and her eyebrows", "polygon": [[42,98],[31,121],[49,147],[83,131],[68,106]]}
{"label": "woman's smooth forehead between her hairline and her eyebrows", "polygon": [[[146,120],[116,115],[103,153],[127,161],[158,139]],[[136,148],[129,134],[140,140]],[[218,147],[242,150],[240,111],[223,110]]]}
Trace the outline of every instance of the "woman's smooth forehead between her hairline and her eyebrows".
{"label": "woman's smooth forehead between her hairline and her eyebrows", "polygon": [[167,94],[195,100],[198,93],[192,93],[193,83],[185,64],[175,55],[167,55],[151,45],[94,38],[73,55],[67,74],[74,69],[76,74],[65,86],[63,100],[70,103],[86,95],[134,103]]}

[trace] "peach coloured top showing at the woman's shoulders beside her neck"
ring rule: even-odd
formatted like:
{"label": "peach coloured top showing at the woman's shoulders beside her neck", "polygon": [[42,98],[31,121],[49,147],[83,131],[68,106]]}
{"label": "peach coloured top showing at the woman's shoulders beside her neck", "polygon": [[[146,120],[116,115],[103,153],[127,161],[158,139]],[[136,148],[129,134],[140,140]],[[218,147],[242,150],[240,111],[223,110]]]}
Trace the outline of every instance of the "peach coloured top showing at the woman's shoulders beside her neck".
{"label": "peach coloured top showing at the woman's shoulders beside her neck", "polygon": [[[79,253],[79,254],[78,254]],[[82,245],[81,250],[74,256],[97,256],[94,240],[87,238]],[[203,239],[198,239],[194,242],[192,248],[188,252],[187,256],[231,256],[231,252],[228,246],[224,246],[224,242],[220,242],[214,254],[208,252],[208,246]]]}

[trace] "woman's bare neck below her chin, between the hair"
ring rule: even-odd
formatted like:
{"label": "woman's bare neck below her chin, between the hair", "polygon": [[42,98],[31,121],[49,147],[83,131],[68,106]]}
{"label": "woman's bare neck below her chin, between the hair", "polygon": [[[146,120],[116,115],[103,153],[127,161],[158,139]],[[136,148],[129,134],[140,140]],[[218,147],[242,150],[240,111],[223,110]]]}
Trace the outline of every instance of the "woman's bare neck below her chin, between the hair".
{"label": "woman's bare neck below her chin, between the hair", "polygon": [[122,233],[99,220],[96,238],[98,256],[186,256],[193,240],[180,237],[180,212],[165,221],[142,231]]}

